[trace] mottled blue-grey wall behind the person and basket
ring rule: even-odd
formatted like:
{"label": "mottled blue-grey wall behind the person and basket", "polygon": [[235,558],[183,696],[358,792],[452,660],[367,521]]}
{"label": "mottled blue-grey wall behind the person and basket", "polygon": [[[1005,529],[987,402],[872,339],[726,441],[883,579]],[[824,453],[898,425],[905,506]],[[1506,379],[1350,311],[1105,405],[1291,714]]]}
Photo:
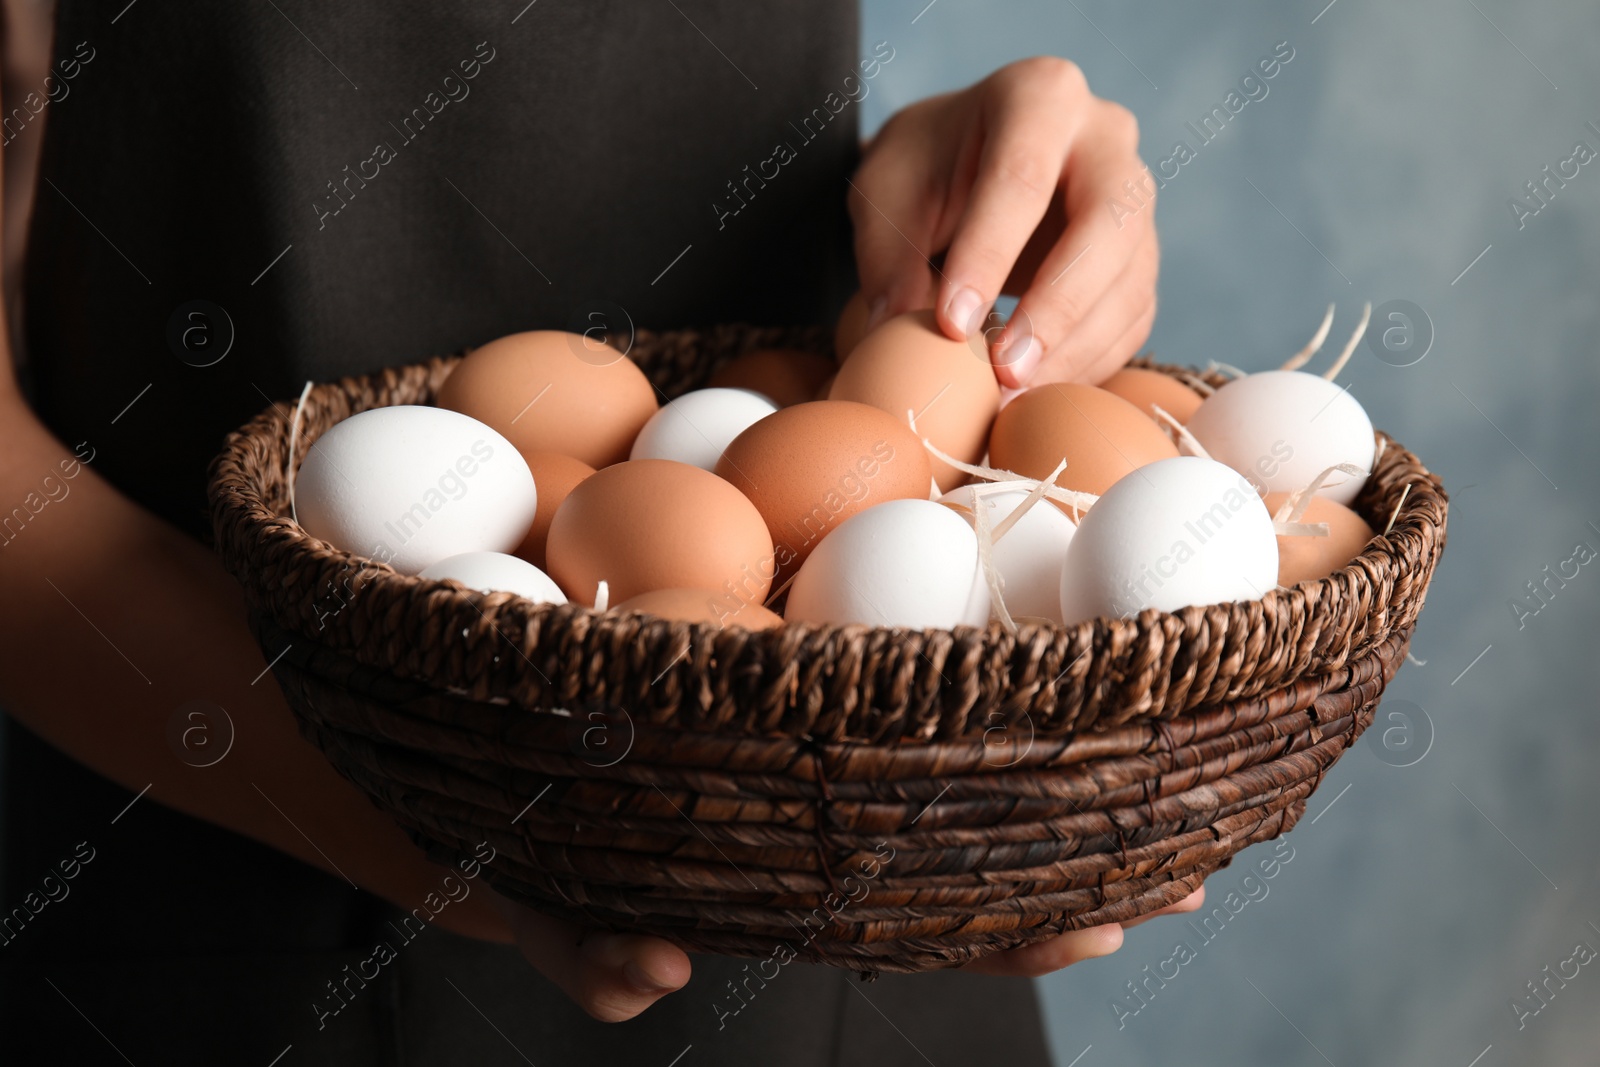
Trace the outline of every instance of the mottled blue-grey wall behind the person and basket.
{"label": "mottled blue-grey wall behind the person and basket", "polygon": [[[1600,960],[1574,947],[1600,949],[1600,560],[1566,561],[1581,542],[1600,550],[1600,162],[1549,184],[1538,214],[1507,202],[1539,206],[1525,182],[1579,141],[1600,150],[1600,8],[925,3],[866,2],[864,42],[898,50],[866,101],[869,130],[1053,53],[1138,114],[1158,166],[1174,142],[1200,144],[1186,123],[1258,58],[1294,50],[1162,192],[1158,357],[1277,366],[1330,301],[1334,349],[1366,299],[1416,304],[1434,334],[1414,365],[1363,346],[1342,376],[1453,494],[1413,645],[1426,665],[1400,673],[1288,837],[1293,859],[1253,880],[1254,897],[1240,889],[1210,942],[1155,921],[1042,982],[1058,1064],[1595,1062]],[[1546,565],[1578,574],[1541,603],[1528,582]],[[1269,851],[1216,875],[1213,902]],[[1195,958],[1150,981],[1147,1005],[1131,998],[1146,966],[1173,973],[1178,941]],[[1574,969],[1544,1001],[1530,995],[1526,982]]]}

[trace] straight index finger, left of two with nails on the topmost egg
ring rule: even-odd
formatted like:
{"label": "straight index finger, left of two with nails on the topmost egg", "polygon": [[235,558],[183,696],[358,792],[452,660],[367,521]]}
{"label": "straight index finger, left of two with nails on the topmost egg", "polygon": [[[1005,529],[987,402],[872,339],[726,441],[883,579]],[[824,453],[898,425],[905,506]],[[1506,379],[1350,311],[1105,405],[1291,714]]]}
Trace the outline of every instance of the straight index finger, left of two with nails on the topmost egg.
{"label": "straight index finger, left of two with nails on the topmost egg", "polygon": [[987,80],[981,101],[982,150],[936,304],[950,338],[966,338],[982,322],[1045,218],[1090,90],[1074,64],[1038,58]]}

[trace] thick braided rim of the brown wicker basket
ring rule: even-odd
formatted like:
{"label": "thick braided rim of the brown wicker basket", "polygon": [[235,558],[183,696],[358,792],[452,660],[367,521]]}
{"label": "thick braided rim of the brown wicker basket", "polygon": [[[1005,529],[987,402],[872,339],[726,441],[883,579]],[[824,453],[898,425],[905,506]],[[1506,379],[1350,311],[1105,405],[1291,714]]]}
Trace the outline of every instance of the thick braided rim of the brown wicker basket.
{"label": "thick braided rim of the brown wicker basket", "polygon": [[[640,330],[635,349],[648,350],[654,344],[680,338],[685,333],[690,331],[651,333]],[[350,376],[312,387],[301,426],[301,440],[296,442],[296,462],[306,456],[326,426],[357,411],[384,406],[382,398],[389,392],[402,389],[406,374],[422,376],[430,382],[430,386],[421,387],[421,398],[413,400],[413,403],[430,400],[432,389],[437,389],[437,384],[459,358],[459,354],[434,357],[410,368],[390,368],[376,374]],[[1211,384],[1226,381],[1216,373],[1208,374],[1195,368],[1149,360],[1136,360],[1133,365],[1168,374],[1194,376]],[[330,421],[330,416],[338,418]],[[285,466],[290,422],[288,406],[269,405],[261,414],[229,435],[222,453],[213,462],[210,493],[218,547],[229,569],[246,587],[253,611],[272,617],[274,624],[286,633],[299,633],[322,645],[323,651],[336,651],[374,670],[390,672],[395,677],[480,701],[510,702],[530,710],[550,710],[584,699],[581,691],[584,686],[563,686],[547,677],[549,672],[541,670],[538,664],[547,662],[552,654],[560,656],[563,651],[566,654],[592,654],[603,646],[646,649],[648,654],[640,657],[642,664],[643,661],[666,664],[662,675],[650,685],[654,686],[662,677],[672,675],[672,685],[664,689],[670,696],[662,697],[672,705],[682,704],[685,697],[693,702],[696,675],[704,673],[710,664],[722,662],[726,667],[730,657],[746,657],[741,662],[762,664],[765,675],[795,657],[832,659],[840,654],[848,656],[851,648],[864,648],[874,654],[890,649],[893,654],[893,648],[898,646],[902,649],[901,657],[910,661],[910,667],[915,667],[918,673],[923,672],[923,667],[933,667],[944,681],[949,681],[949,677],[944,675],[942,667],[952,657],[958,657],[962,664],[978,662],[984,670],[1005,672],[1010,669],[1013,675],[1019,657],[1022,665],[1040,667],[1040,670],[1024,672],[1029,673],[1026,678],[1011,678],[994,693],[970,691],[960,694],[954,702],[950,694],[923,694],[912,699],[910,704],[922,707],[922,715],[915,723],[902,725],[909,728],[886,729],[882,721],[875,726],[862,721],[840,726],[835,721],[834,728],[827,731],[827,736],[835,739],[960,736],[974,728],[970,720],[982,715],[992,718],[995,712],[1002,713],[1006,721],[1014,721],[1018,715],[1032,717],[1034,712],[1048,712],[1040,715],[1038,729],[1061,733],[1094,723],[1118,725],[1138,718],[1165,718],[1229,699],[1258,696],[1314,667],[1336,670],[1395,629],[1414,622],[1443,545],[1448,510],[1438,477],[1422,467],[1421,461],[1392,437],[1379,432],[1382,456],[1374,464],[1355,506],[1355,510],[1368,520],[1373,530],[1379,531],[1378,536],[1368,542],[1360,557],[1334,574],[1286,590],[1269,590],[1259,600],[1194,606],[1176,613],[1147,608],[1126,619],[1101,617],[1067,627],[1048,622],[1021,622],[1014,635],[1006,633],[997,624],[984,629],[907,630],[861,624],[786,622],[782,627],[754,632],[733,625],[715,627],[707,622],[680,622],[635,613],[598,613],[571,603],[534,605],[512,593],[485,595],[454,581],[400,574],[386,563],[312,537],[288,517],[286,507],[277,506],[270,466],[262,470],[251,466],[251,458],[259,456],[277,458],[278,466]],[[1410,488],[1406,490],[1406,486]],[[1384,533],[1390,514],[1394,514],[1394,523]],[[309,566],[304,577],[312,577],[312,571],[315,571],[318,584],[309,589],[294,589],[293,582],[280,582],[277,587],[264,589],[259,574],[251,566],[261,553],[270,553],[274,558],[315,560],[315,566]],[[334,629],[326,629],[326,613],[315,608],[315,600],[318,590],[328,585],[328,582],[320,581],[328,573],[346,576],[346,587],[352,589],[362,600],[395,606],[386,614],[368,613],[362,616],[363,630],[378,625],[384,629],[381,635],[370,632],[341,635],[338,617],[334,617]],[[358,582],[358,589],[350,581],[352,577]],[[1397,589],[1400,595],[1395,595]],[[1411,603],[1406,601],[1406,597],[1411,598]],[[1310,625],[1317,619],[1318,606],[1330,601],[1342,605],[1342,614],[1336,619],[1339,625],[1334,627],[1338,632],[1331,635],[1328,627],[1318,630],[1318,627]],[[354,598],[349,603],[354,603]],[[1354,614],[1350,605],[1358,606]],[[342,606],[341,603],[339,614],[342,614]],[[426,613],[430,619],[429,625],[416,627],[408,622],[418,611]],[[314,622],[315,625],[312,625]],[[506,670],[506,664],[498,661],[494,665],[499,669],[491,667],[475,677],[464,670],[445,670],[445,677],[440,677],[437,667],[448,665],[450,657],[435,656],[430,649],[419,646],[419,643],[437,640],[440,635],[458,632],[485,635],[485,627],[506,641],[510,649],[520,653],[539,678],[517,669],[515,664]],[[1317,637],[1328,640],[1315,640],[1314,637],[1307,643],[1307,635],[1314,630],[1318,632]],[[1251,664],[1275,664],[1277,669],[1267,672],[1240,670],[1234,678],[1222,681],[1213,675],[1206,685],[1198,685],[1195,678],[1189,678],[1187,683],[1182,678],[1168,678],[1160,683],[1157,678],[1158,685],[1149,686],[1136,705],[1107,713],[1104,705],[1114,699],[1118,680],[1107,677],[1104,670],[1096,672],[1096,665],[1114,667],[1110,673],[1125,673],[1130,664],[1139,665],[1146,673],[1162,664],[1171,667],[1181,656],[1174,659],[1176,654],[1166,648],[1168,645],[1182,643],[1186,637],[1194,635],[1210,635],[1214,641],[1219,632],[1230,635],[1229,648],[1221,651],[1224,661],[1232,659],[1242,664],[1243,659],[1248,659]],[[675,664],[667,664],[664,653],[672,648],[678,649],[670,657]],[[400,654],[394,654],[395,649]],[[914,659],[904,656],[904,649],[914,649],[925,662],[917,665]],[[506,656],[504,659],[512,661],[514,657]],[[1085,659],[1090,662],[1083,664]],[[1080,664],[1083,665],[1080,667]],[[408,665],[413,669],[408,670]],[[1194,664],[1184,667],[1194,673]],[[1042,683],[1040,677],[1034,677],[1050,670],[1059,672],[1051,683]],[[456,677],[450,678],[451,673]],[[1203,667],[1200,673],[1205,673]],[[768,680],[771,681],[771,678]],[[1064,680],[1069,683],[1066,693],[1059,685]],[[603,678],[594,678],[594,681],[598,683]],[[810,681],[816,680],[803,677],[803,672],[787,678],[790,686],[805,686]],[[938,683],[934,685],[938,686]],[[610,693],[618,686],[602,685],[600,688],[606,691],[600,699],[616,696],[622,702],[621,697],[627,696],[626,693]],[[966,688],[971,689],[971,686]],[[1098,693],[1099,699],[1091,689]],[[858,696],[862,715],[882,718],[882,709],[872,712],[875,699],[872,693],[858,693]],[[1062,697],[1077,707],[1062,712]],[[934,717],[938,721],[930,721],[928,705],[939,707],[939,713]],[[958,721],[950,721],[952,715]],[[814,720],[816,717],[802,715],[800,718]],[[794,717],[779,717],[774,721],[774,715],[768,713],[760,728],[790,733],[795,726]]]}

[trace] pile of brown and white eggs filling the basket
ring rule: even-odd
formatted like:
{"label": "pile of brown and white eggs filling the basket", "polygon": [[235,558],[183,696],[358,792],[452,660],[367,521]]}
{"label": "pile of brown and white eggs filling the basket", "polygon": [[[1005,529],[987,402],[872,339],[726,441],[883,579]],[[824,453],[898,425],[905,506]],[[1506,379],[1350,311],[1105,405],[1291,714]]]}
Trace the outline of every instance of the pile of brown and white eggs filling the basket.
{"label": "pile of brown and white eggs filling the basket", "polygon": [[600,341],[501,338],[435,406],[325,432],[293,485],[296,522],[403,574],[749,629],[1251,600],[1373,537],[1349,507],[1373,427],[1331,374],[1213,390],[1125,368],[1003,403],[982,347],[933,312],[864,334],[859,317],[846,309],[838,363],[750,352],[666,405]]}

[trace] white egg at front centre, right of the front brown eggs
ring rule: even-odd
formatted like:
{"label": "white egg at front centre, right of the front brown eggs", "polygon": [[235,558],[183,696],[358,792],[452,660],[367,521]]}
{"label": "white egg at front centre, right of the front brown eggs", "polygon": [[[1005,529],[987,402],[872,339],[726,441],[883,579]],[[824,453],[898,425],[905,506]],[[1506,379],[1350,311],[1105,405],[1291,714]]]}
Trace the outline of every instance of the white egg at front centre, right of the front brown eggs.
{"label": "white egg at front centre, right of the front brown eggs", "polygon": [[978,536],[934,501],[886,501],[838,525],[800,566],[784,617],[912,630],[986,625]]}

